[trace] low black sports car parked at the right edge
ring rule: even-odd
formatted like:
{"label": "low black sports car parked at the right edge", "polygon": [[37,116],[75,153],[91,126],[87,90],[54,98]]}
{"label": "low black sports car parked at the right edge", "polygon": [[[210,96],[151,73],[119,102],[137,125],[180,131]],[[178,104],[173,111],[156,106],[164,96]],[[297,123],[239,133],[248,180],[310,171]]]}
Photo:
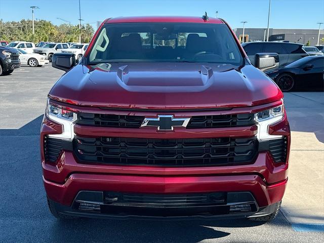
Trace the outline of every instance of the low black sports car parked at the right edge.
{"label": "low black sports car parked at the right edge", "polygon": [[282,91],[324,90],[324,56],[306,56],[265,73]]}

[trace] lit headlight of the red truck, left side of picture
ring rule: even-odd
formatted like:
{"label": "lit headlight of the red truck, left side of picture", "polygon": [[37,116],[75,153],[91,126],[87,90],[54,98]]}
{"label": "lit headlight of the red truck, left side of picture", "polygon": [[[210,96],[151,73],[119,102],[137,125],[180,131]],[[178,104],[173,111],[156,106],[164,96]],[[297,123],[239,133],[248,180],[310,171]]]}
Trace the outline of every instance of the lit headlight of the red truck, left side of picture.
{"label": "lit headlight of the red truck, left side of picture", "polygon": [[63,126],[63,132],[61,134],[49,134],[49,137],[63,138],[66,140],[72,140],[74,136],[73,126],[76,120],[76,113],[68,110],[64,110],[53,103],[50,103],[50,99],[47,100],[46,116]]}

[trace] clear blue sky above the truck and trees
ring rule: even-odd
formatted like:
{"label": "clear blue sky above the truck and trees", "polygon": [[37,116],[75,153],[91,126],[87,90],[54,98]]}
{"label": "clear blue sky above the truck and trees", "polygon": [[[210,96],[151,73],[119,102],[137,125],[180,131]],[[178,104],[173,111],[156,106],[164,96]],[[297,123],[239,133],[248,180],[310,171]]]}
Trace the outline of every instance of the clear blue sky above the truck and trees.
{"label": "clear blue sky above the truck and trees", "polygon": [[[81,0],[82,19],[96,26],[96,21],[108,17],[138,15],[183,15],[224,18],[232,28],[267,26],[269,0]],[[35,18],[54,24],[63,18],[78,23],[78,0],[0,0],[0,19],[18,21],[31,19],[30,6],[38,6]],[[323,0],[272,0],[270,28],[316,29],[324,22]]]}

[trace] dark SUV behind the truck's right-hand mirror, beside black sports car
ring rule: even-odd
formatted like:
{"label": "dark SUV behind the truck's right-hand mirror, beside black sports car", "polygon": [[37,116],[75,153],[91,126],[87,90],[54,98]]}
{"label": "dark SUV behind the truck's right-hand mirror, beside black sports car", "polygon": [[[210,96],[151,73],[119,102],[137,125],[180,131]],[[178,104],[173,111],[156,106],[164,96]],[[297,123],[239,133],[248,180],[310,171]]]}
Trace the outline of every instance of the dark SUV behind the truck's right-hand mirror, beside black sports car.
{"label": "dark SUV behind the truck's right-hand mirror, beside black sports car", "polygon": [[255,54],[261,52],[277,53],[279,55],[279,66],[289,64],[308,56],[307,52],[303,50],[303,45],[296,43],[246,42],[242,43],[242,47],[253,65],[255,65]]}

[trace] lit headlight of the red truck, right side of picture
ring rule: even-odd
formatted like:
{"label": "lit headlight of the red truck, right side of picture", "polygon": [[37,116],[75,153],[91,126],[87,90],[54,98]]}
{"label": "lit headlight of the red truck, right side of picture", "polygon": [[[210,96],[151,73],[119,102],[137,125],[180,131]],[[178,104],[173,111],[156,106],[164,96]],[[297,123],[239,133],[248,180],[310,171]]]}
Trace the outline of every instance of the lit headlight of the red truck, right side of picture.
{"label": "lit headlight of the red truck, right side of picture", "polygon": [[281,121],[285,115],[284,103],[281,106],[261,111],[255,114],[254,118],[258,126],[258,140],[269,140],[282,137],[281,135],[270,135],[268,133],[269,125]]}

